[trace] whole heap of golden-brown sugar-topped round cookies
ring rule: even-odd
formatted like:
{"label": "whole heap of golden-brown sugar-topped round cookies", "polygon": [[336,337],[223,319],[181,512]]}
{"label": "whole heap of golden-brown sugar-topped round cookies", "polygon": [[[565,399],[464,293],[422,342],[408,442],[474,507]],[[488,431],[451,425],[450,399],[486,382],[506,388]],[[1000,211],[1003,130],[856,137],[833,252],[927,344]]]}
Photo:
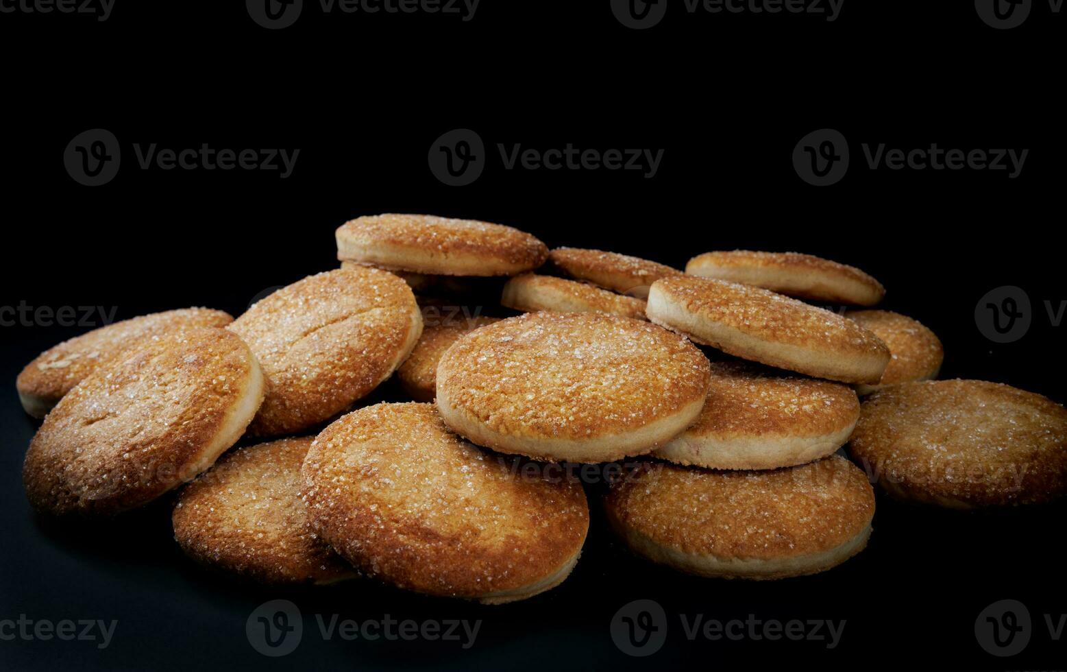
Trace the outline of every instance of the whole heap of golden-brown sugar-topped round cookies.
{"label": "whole heap of golden-brown sugar-topped round cookies", "polygon": [[[107,517],[180,487],[175,537],[207,565],[496,604],[578,560],[587,497],[560,463],[626,460],[604,497],[619,537],[710,577],[844,562],[871,534],[872,481],[960,509],[1067,491],[1067,411],[934,380],[937,337],[870,310],[885,290],[851,266],[730,251],[683,271],[412,215],[336,240],[340,268],[236,319],[146,315],[31,362],[33,506]],[[520,314],[425,319],[487,291]],[[391,378],[414,401],[351,410]]]}

